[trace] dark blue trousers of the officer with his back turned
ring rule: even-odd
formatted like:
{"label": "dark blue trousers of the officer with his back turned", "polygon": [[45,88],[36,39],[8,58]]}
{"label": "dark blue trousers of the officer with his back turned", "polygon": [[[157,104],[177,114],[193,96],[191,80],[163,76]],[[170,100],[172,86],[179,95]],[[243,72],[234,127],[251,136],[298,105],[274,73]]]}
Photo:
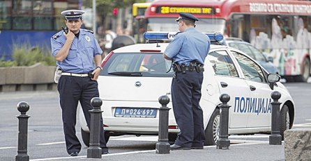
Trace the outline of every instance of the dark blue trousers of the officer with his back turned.
{"label": "dark blue trousers of the officer with his back turned", "polygon": [[203,74],[195,71],[176,73],[172,80],[172,103],[180,132],[175,141],[179,146],[204,146],[203,111],[199,106]]}

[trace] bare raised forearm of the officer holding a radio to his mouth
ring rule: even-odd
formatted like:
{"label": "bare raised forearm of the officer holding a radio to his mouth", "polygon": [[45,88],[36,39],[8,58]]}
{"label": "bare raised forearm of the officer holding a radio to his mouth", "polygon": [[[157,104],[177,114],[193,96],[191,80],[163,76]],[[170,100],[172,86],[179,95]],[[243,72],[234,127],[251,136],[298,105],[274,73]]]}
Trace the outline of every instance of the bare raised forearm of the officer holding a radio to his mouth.
{"label": "bare raised forearm of the officer holding a radio to his mouth", "polygon": [[66,42],[63,44],[63,47],[56,53],[55,60],[58,62],[62,62],[68,56],[69,49],[71,44],[73,43],[73,39],[75,38],[75,34],[73,32],[69,32],[66,36]]}

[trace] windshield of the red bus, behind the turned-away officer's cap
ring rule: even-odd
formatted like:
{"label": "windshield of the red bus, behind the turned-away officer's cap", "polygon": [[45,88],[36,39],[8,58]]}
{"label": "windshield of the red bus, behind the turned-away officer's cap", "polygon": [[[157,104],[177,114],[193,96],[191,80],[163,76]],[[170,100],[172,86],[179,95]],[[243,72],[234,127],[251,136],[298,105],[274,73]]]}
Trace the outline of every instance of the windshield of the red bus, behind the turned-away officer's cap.
{"label": "windshield of the red bus, behind the turned-away officer's cap", "polygon": [[[147,21],[147,31],[167,31],[176,32],[178,25],[175,22],[176,18],[149,18]],[[165,25],[163,25],[165,24]],[[223,33],[225,31],[225,19],[199,19],[196,22],[198,31]]]}

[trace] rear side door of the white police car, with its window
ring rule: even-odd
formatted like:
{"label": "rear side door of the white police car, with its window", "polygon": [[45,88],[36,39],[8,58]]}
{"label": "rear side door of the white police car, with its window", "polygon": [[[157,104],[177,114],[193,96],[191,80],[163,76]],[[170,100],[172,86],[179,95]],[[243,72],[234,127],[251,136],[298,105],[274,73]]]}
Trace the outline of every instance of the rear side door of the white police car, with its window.
{"label": "rear side door of the white police car, with its window", "polygon": [[238,69],[225,48],[211,50],[207,60],[209,61],[208,65],[211,65],[211,70],[215,72],[214,76],[220,94],[229,94],[230,96],[228,104],[232,107],[229,108],[229,128],[246,128],[248,113],[238,111],[238,105],[245,103],[245,100],[242,102],[243,98],[250,96],[247,83],[239,77]]}

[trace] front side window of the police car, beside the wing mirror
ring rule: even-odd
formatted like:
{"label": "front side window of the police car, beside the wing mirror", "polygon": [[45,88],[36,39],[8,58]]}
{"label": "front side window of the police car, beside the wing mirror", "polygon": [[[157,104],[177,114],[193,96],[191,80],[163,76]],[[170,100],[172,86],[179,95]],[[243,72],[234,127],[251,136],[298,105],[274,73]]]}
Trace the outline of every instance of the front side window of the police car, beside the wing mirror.
{"label": "front side window of the police car, beside the wing mirror", "polygon": [[238,64],[243,71],[245,79],[256,82],[265,82],[264,73],[262,72],[259,65],[250,60],[250,58],[243,56],[241,53],[237,53],[235,51],[232,51],[232,53],[238,61]]}

